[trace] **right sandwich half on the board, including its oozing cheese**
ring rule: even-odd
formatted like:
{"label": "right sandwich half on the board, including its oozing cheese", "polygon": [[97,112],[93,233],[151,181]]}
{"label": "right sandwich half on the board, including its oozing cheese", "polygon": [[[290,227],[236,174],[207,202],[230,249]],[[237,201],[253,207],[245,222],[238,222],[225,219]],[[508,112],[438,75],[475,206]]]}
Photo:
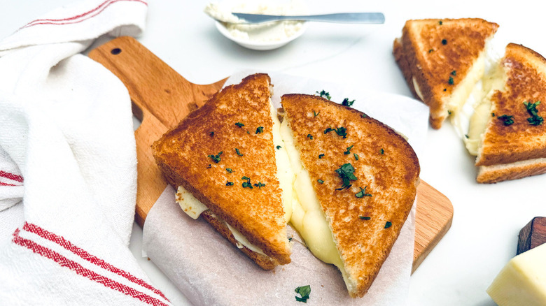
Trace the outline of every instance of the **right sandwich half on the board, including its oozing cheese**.
{"label": "right sandwich half on the board, including its oozing cheese", "polygon": [[402,136],[362,112],[304,94],[281,103],[295,176],[290,223],[361,297],[412,209],[419,161]]}

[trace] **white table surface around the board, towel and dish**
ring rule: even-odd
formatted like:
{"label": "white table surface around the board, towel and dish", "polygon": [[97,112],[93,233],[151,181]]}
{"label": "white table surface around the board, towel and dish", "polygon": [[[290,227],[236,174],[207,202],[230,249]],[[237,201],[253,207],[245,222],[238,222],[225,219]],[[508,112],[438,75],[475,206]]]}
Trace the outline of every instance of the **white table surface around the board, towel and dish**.
{"label": "white table surface around the board, towel and dish", "polygon": [[[497,22],[496,38],[546,54],[544,8],[539,1],[309,1],[310,13],[381,11],[386,23],[309,25],[279,50],[246,50],[221,36],[202,10],[207,1],[149,1],[139,41],[190,82],[209,84],[244,68],[281,71],[409,96],[392,55],[405,20],[482,17]],[[487,2],[487,3],[486,3]],[[0,0],[0,39],[69,0]],[[509,3],[509,5],[505,5]],[[515,255],[517,235],[533,217],[546,215],[546,175],[477,184],[474,158],[450,124],[429,129],[420,156],[421,178],[453,203],[451,229],[412,275],[408,305],[495,305],[485,290]],[[188,302],[141,257],[142,230],[134,225],[130,248],[153,283],[174,305]]]}

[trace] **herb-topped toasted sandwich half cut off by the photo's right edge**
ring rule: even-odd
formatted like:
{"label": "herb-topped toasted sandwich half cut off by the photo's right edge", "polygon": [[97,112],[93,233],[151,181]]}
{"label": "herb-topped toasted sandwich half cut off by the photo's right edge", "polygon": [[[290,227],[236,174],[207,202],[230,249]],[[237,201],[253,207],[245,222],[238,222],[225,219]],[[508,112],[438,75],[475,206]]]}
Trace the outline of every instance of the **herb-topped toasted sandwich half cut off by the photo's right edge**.
{"label": "herb-topped toasted sandwich half cut off by the photo's right edge", "polygon": [[510,43],[497,69],[500,73],[491,80],[496,86],[482,101],[490,111],[485,112],[488,120],[477,150],[481,183],[546,172],[546,124],[539,119],[546,115],[546,59]]}

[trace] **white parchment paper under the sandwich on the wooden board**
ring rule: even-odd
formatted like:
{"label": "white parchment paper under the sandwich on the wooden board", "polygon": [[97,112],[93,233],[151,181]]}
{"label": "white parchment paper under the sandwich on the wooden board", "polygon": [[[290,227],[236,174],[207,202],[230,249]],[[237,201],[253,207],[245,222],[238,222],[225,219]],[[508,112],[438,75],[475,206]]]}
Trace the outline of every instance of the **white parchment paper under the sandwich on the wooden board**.
{"label": "white parchment paper under the sandwich on the wooden board", "polygon": [[[226,85],[256,72],[241,71]],[[281,73],[269,76],[276,107],[280,107],[283,94],[316,94],[324,89],[332,101],[354,99],[353,108],[403,133],[420,155],[428,124],[428,108],[423,103]],[[294,290],[305,285],[311,286],[307,305],[405,305],[413,261],[415,205],[370,291],[363,298],[350,298],[339,270],[315,258],[300,238],[295,238],[290,264],[262,270],[207,221],[188,217],[174,202],[175,192],[167,187],[148,213],[143,249],[195,305],[302,305],[295,300],[299,295]]]}

